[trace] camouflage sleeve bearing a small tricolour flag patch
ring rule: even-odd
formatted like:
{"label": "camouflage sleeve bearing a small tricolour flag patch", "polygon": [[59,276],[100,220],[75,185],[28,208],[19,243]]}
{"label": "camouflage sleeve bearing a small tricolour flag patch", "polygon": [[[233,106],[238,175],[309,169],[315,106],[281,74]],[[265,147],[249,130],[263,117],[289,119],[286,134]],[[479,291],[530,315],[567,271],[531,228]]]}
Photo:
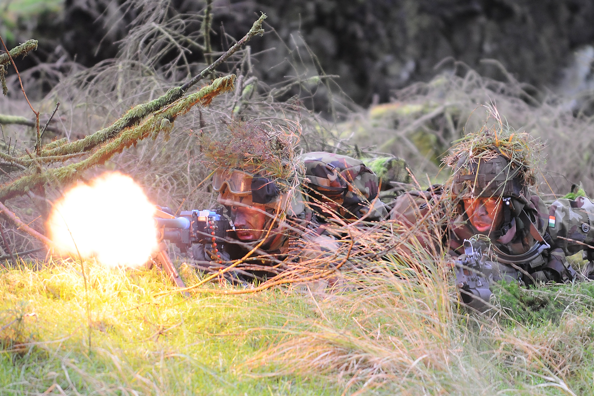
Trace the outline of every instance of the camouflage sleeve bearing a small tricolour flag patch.
{"label": "camouflage sleeve bearing a small tricolour flag patch", "polygon": [[585,197],[561,198],[548,206],[547,230],[554,248],[567,255],[594,249],[594,203]]}

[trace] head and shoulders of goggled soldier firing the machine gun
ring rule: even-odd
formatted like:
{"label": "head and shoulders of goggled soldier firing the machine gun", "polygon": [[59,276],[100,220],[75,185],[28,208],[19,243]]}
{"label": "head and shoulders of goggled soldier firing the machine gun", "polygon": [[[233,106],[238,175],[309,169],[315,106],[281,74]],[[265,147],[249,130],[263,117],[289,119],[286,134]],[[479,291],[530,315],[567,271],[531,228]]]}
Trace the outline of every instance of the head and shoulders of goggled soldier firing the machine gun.
{"label": "head and shoulders of goggled soldier firing the machine gun", "polygon": [[299,188],[287,190],[286,180],[245,169],[220,168],[213,173],[217,202],[226,209],[232,229],[217,246],[194,245],[199,261],[249,258],[252,268],[276,265],[286,259],[291,241],[309,239],[317,223],[305,206]]}

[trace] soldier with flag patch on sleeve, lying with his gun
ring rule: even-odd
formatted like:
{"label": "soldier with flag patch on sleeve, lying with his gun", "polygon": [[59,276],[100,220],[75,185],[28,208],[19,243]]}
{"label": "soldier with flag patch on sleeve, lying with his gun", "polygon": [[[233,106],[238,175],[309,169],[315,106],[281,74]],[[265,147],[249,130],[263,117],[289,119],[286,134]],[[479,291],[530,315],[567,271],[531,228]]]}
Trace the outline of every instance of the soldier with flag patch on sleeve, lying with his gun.
{"label": "soldier with flag patch on sleeve, lying with his gun", "polygon": [[[507,137],[511,140],[512,136]],[[469,135],[466,141],[473,139],[480,138]],[[488,301],[491,295],[491,284],[501,280],[530,285],[577,278],[566,256],[592,245],[594,205],[589,199],[565,198],[546,204],[530,191],[536,182],[533,170],[513,150],[502,150],[497,143],[457,150],[448,164],[454,168],[448,198],[455,210],[443,243],[451,255],[458,256],[454,270],[465,303],[481,308],[481,300]],[[425,201],[443,205],[445,196],[440,192]],[[420,218],[416,197],[414,193],[403,195],[391,218],[402,220],[402,213]],[[469,260],[473,255],[475,262]]]}

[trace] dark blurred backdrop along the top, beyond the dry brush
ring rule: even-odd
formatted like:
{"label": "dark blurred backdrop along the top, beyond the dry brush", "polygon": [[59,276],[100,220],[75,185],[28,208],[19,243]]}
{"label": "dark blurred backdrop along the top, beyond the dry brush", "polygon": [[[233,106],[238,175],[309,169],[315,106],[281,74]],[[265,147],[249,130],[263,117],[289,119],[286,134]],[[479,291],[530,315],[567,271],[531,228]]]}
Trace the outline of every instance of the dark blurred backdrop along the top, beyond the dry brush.
{"label": "dark blurred backdrop along the top, beyond the dry brush", "polygon": [[[0,34],[12,46],[39,40],[29,65],[66,56],[89,67],[118,53],[118,40],[140,12],[129,3],[2,0]],[[182,14],[204,8],[203,1],[169,4]],[[225,49],[225,34],[241,37],[254,16],[266,12],[268,31],[276,33],[252,44],[255,52],[267,50],[258,60],[262,80],[278,83],[291,73],[279,67],[287,55],[283,43],[307,45],[317,57],[311,66],[339,75],[340,88],[362,106],[387,102],[393,90],[428,81],[450,56],[485,77],[506,78],[499,67],[482,62],[491,58],[519,81],[557,86],[574,52],[594,42],[589,0],[215,0],[213,11],[214,50]],[[185,32],[197,28],[189,23]],[[192,49],[188,59],[202,55]]]}

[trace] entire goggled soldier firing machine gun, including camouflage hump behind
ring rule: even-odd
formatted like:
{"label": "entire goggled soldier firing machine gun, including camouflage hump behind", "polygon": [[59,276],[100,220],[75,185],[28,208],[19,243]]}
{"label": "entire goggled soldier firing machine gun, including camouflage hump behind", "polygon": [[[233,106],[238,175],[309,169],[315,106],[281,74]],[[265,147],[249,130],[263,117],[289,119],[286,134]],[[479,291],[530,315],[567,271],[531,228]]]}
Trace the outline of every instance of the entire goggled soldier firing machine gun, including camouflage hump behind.
{"label": "entire goggled soldier firing machine gun, including camouflage hump behind", "polygon": [[336,236],[324,225],[326,217],[375,221],[387,216],[386,206],[377,199],[377,176],[362,161],[324,152],[304,154],[301,160],[307,194],[298,188],[287,191],[286,180],[254,170],[217,169],[212,187],[233,228],[216,249],[195,245],[193,258],[249,257],[251,268],[266,272],[264,267],[283,260],[323,258],[336,251]]}

